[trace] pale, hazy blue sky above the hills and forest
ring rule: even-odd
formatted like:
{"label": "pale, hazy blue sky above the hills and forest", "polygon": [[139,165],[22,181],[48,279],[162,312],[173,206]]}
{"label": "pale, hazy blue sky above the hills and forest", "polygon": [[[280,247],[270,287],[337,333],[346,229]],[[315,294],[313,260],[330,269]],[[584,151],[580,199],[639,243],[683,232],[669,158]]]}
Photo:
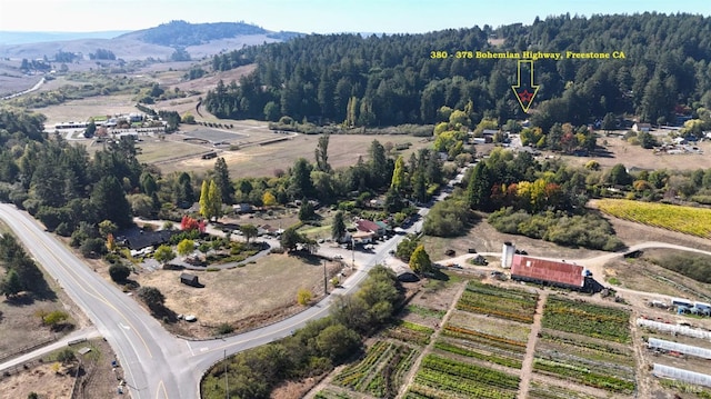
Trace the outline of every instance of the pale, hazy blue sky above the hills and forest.
{"label": "pale, hazy blue sky above the hills and forest", "polygon": [[421,33],[522,22],[570,12],[690,12],[709,0],[0,0],[0,31],[139,30],[171,20],[253,23],[302,33]]}

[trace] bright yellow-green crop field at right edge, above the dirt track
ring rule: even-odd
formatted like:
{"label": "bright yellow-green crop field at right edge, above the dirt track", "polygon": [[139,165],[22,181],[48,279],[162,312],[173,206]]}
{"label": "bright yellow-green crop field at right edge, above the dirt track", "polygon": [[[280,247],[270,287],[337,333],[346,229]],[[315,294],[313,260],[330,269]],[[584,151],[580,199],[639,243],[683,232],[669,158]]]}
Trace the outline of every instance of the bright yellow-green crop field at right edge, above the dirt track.
{"label": "bright yellow-green crop field at right edge, above the dirt track", "polygon": [[620,219],[703,238],[711,237],[709,209],[613,199],[600,200],[598,207]]}

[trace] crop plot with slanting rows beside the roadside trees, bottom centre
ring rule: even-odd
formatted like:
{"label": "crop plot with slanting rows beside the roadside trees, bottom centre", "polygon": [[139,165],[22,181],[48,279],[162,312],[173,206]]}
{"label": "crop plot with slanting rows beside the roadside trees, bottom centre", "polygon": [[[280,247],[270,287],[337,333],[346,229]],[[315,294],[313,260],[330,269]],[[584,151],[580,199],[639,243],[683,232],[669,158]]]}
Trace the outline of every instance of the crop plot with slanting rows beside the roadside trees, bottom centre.
{"label": "crop plot with slanting rows beside the roadside trees, bottom centre", "polygon": [[378,398],[394,398],[418,355],[409,346],[377,341],[360,362],[346,367],[332,383]]}

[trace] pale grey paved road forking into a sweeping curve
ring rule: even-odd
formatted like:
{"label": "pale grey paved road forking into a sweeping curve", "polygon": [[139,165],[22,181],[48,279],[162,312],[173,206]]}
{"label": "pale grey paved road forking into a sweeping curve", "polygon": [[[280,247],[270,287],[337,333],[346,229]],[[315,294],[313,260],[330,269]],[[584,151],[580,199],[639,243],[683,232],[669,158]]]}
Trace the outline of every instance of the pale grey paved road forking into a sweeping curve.
{"label": "pale grey paved road forking into a sweeping curve", "polygon": [[[87,313],[114,349],[124,369],[133,399],[199,398],[204,370],[224,355],[254,348],[283,337],[309,320],[328,315],[332,297],[280,322],[226,339],[188,341],[167,332],[136,300],[104,280],[62,242],[14,206],[0,203],[0,218],[10,226],[29,253],[52,276]],[[400,238],[379,245],[378,252],[332,293],[349,293],[382,262]]]}

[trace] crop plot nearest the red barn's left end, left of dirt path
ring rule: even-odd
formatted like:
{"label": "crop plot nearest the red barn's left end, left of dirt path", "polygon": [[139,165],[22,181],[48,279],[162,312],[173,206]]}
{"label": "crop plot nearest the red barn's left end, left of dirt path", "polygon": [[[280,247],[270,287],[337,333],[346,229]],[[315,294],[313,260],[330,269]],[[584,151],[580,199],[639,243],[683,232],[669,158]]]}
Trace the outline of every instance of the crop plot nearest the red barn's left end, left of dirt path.
{"label": "crop plot nearest the red barn's left end, left of dirt path", "polygon": [[538,295],[533,292],[471,281],[457,302],[457,309],[532,323],[537,300]]}

